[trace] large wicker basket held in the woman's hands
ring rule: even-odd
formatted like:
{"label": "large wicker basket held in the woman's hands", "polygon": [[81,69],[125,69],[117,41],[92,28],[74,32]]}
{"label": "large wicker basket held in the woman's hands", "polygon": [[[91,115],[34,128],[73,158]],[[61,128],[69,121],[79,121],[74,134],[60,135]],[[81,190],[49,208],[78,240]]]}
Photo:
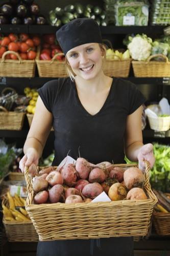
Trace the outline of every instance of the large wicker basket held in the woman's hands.
{"label": "large wicker basket held in the woman's hands", "polygon": [[[114,166],[128,167],[130,164]],[[26,210],[37,230],[40,241],[90,239],[147,235],[157,198],[149,183],[146,163],[144,189],[147,200],[122,200],[99,203],[33,204],[32,178],[25,169],[28,197]],[[45,218],[45,222],[44,222]]]}

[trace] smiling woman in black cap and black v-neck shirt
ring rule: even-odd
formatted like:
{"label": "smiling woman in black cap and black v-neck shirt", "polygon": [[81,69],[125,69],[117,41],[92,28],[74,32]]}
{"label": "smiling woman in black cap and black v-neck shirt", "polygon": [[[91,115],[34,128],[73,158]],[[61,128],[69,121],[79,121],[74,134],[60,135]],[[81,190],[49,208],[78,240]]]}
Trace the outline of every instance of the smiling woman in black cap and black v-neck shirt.
{"label": "smiling woman in black cap and black v-neck shirt", "polygon": [[[53,125],[53,165],[79,154],[97,164],[148,160],[154,164],[152,144],[143,145],[141,114],[144,97],[135,84],[103,72],[105,47],[98,24],[90,18],[71,20],[56,33],[66,56],[70,77],[48,81],[38,90],[34,118],[20,161],[34,170]],[[43,116],[43,118],[42,118]],[[87,215],[88,216],[88,215]],[[117,217],[118,218],[118,217]],[[114,228],[114,227],[113,227]],[[37,256],[133,255],[133,238],[39,242]],[[83,250],[82,250],[83,248]]]}

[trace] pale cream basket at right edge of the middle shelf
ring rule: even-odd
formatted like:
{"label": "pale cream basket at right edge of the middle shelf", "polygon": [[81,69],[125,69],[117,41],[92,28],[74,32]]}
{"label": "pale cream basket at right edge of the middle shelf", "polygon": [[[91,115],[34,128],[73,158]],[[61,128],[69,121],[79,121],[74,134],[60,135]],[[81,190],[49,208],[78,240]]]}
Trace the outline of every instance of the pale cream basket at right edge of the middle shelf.
{"label": "pale cream basket at right edge of the middle shelf", "polygon": [[148,116],[148,121],[152,130],[163,132],[170,129],[170,116],[152,117]]}

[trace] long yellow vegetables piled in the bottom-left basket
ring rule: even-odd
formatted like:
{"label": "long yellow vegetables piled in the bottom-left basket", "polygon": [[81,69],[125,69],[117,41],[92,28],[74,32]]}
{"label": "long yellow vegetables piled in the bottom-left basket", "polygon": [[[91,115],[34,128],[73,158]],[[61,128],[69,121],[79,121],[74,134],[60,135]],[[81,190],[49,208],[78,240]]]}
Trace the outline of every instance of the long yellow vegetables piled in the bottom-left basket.
{"label": "long yellow vegetables piled in the bottom-left basket", "polygon": [[[9,207],[7,207],[9,205]],[[2,203],[3,215],[5,221],[30,221],[30,218],[25,210],[26,200],[19,197],[17,194],[14,197],[7,193],[7,203]]]}

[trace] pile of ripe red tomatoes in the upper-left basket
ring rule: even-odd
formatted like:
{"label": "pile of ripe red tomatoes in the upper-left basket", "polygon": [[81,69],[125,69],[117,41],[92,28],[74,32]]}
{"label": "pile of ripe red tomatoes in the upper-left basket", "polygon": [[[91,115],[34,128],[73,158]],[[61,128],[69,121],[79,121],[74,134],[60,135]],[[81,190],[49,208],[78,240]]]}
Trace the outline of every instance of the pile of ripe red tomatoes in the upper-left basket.
{"label": "pile of ripe red tomatoes in the upper-left basket", "polygon": [[[1,34],[0,40],[0,58],[6,51],[17,52],[21,59],[33,60],[37,55],[37,46],[40,45],[40,38],[38,36],[30,37],[29,34],[10,33],[8,35]],[[7,54],[6,59],[18,59],[14,53]]]}

